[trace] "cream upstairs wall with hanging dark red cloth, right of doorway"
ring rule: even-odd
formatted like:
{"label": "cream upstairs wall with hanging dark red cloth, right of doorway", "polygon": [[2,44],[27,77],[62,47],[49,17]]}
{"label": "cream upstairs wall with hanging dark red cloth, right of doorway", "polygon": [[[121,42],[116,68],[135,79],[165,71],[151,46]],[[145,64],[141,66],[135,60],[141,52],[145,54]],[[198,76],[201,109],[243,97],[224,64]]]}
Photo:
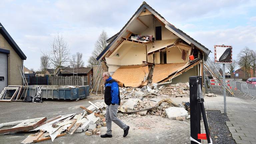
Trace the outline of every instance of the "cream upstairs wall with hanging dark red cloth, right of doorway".
{"label": "cream upstairs wall with hanging dark red cloth, right of doorway", "polygon": [[[182,57],[182,51],[183,49],[177,48],[177,47],[170,47],[166,51],[166,59],[167,63],[182,63],[186,62],[186,59],[183,60]],[[186,52],[186,51],[185,51]],[[187,52],[186,52],[187,54]],[[186,55],[187,57],[187,55]]]}

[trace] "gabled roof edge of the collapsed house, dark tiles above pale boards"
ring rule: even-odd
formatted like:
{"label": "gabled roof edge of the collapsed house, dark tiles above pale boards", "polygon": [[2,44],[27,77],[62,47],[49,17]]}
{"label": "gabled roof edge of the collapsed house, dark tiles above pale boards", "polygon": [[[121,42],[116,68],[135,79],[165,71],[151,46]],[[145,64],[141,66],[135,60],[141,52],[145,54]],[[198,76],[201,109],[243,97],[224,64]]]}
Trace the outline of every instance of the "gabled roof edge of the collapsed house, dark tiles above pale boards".
{"label": "gabled roof edge of the collapsed house, dark tiles above pale boards", "polygon": [[129,19],[129,21],[124,25],[124,27],[115,35],[113,35],[112,37],[110,37],[109,39],[107,39],[107,43],[108,45],[106,46],[106,48],[99,54],[99,56],[96,58],[97,60],[100,60],[104,54],[108,51],[108,49],[112,46],[112,44],[119,38],[119,36],[124,32],[124,30],[128,27],[128,25],[131,23],[131,21],[137,17],[140,12],[144,9],[148,9],[153,15],[155,15],[158,19],[160,19],[167,27],[167,29],[169,29],[172,33],[174,33],[175,35],[177,35],[178,37],[180,37],[181,39],[183,39],[184,41],[186,41],[188,44],[193,44],[195,45],[197,48],[199,48],[200,50],[202,50],[206,56],[205,59],[207,58],[207,56],[209,55],[209,53],[211,52],[208,48],[206,48],[204,45],[202,45],[201,43],[199,43],[198,41],[194,40],[193,38],[191,38],[189,35],[187,35],[186,33],[184,33],[182,30],[177,29],[174,25],[170,24],[169,22],[167,22],[163,16],[161,16],[157,11],[155,11],[151,6],[149,6],[145,1],[142,3],[142,5],[138,8],[138,10],[133,14],[133,16]]}

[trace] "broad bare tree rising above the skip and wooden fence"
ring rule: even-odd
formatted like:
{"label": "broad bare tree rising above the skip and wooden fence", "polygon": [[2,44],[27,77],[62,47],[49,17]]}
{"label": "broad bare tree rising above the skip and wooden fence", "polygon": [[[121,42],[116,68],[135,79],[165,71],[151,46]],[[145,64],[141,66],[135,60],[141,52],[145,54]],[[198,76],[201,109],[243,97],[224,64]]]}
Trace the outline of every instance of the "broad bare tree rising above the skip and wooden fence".
{"label": "broad bare tree rising above the skip and wooden fence", "polygon": [[62,65],[68,64],[70,60],[69,51],[67,42],[65,42],[63,36],[58,33],[57,37],[51,42],[51,50],[43,54],[55,68],[59,68]]}

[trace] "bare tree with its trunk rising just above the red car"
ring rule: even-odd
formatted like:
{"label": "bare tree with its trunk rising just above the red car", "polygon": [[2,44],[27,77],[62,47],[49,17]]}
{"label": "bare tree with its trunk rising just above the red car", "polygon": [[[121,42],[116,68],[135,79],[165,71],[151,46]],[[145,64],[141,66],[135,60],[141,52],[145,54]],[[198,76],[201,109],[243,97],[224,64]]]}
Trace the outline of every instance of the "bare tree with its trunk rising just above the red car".
{"label": "bare tree with its trunk rising just above the red car", "polygon": [[245,71],[245,78],[249,77],[250,72],[250,51],[251,50],[248,47],[245,47],[240,51],[240,53],[237,56],[237,63]]}

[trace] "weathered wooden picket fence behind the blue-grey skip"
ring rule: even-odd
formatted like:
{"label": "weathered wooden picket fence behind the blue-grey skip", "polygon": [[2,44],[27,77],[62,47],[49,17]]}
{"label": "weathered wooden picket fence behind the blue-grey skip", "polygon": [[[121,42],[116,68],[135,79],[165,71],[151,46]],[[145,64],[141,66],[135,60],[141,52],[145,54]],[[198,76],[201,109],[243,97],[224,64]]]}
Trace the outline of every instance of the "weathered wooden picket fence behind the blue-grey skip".
{"label": "weathered wooden picket fence behind the blue-grey skip", "polygon": [[48,85],[88,85],[87,76],[55,76],[49,77]]}

